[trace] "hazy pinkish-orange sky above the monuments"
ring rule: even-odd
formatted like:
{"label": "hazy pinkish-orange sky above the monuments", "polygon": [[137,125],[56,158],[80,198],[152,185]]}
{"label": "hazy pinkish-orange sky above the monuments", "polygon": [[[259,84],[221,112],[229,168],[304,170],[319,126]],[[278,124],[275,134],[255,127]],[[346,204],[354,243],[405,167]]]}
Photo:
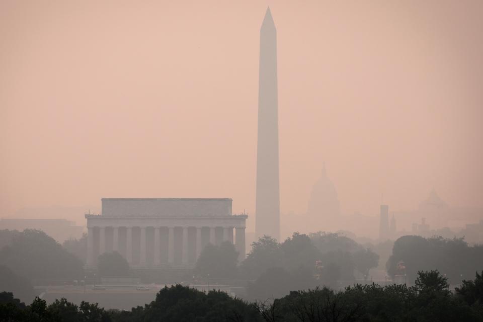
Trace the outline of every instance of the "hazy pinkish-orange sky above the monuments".
{"label": "hazy pinkish-orange sky above the monuments", "polygon": [[414,209],[433,187],[483,206],[480,0],[4,0],[0,217],[101,197],[253,214],[267,5],[283,213],[306,211],[324,161],[342,213],[376,214],[381,193]]}

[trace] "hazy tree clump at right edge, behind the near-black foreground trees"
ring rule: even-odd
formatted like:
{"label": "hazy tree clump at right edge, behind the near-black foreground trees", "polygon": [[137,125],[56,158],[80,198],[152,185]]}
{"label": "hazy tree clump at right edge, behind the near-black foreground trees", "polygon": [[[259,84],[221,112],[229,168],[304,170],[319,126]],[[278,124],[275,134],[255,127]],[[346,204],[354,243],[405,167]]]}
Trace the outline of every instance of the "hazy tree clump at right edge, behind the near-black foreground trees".
{"label": "hazy tree clump at right edge, behind the near-black foreground trees", "polygon": [[415,279],[418,271],[437,268],[450,283],[457,284],[483,267],[483,246],[469,247],[462,238],[403,236],[395,241],[387,261],[389,275],[397,274],[400,261],[409,280]]}

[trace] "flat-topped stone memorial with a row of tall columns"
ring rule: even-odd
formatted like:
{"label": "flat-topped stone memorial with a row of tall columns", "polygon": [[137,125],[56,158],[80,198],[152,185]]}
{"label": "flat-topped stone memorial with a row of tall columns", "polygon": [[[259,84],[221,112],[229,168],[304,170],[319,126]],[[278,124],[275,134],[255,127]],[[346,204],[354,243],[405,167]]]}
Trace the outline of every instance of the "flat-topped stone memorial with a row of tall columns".
{"label": "flat-topped stone memorial with a row of tall columns", "polygon": [[247,215],[231,213],[232,200],[103,198],[100,215],[86,214],[87,266],[119,252],[132,268],[193,268],[203,248],[223,241],[245,259]]}

